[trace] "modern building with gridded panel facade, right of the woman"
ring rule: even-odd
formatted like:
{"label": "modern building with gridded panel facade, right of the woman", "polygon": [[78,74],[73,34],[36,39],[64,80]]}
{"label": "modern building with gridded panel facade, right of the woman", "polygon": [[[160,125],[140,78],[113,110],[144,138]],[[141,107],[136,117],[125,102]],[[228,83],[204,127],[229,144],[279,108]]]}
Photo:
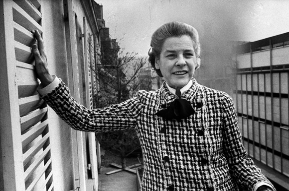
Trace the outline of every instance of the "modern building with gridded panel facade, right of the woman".
{"label": "modern building with gridded panel facade, right of the woman", "polygon": [[249,155],[289,189],[289,33],[235,47],[234,100]]}

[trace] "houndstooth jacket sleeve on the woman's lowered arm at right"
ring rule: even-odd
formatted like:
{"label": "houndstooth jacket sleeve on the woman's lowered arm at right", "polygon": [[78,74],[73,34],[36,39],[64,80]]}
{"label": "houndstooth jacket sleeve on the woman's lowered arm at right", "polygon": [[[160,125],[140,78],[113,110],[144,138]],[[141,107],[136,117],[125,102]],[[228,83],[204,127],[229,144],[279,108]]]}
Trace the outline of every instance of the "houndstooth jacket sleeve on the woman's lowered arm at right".
{"label": "houndstooth jacket sleeve on the woman's lowered arm at right", "polygon": [[261,169],[254,165],[243,146],[238,127],[237,113],[233,100],[229,95],[223,96],[223,146],[230,173],[236,183],[243,189],[254,191],[258,183],[271,182],[262,174]]}

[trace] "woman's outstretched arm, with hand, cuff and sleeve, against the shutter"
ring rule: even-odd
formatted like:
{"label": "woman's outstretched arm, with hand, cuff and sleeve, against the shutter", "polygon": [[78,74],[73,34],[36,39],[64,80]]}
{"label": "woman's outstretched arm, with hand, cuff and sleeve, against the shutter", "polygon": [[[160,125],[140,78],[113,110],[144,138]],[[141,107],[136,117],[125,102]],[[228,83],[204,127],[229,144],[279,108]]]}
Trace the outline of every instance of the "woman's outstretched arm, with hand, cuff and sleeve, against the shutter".
{"label": "woman's outstretched arm, with hand, cuff and sleeve, against the shutter", "polygon": [[[49,87],[49,84],[53,85],[51,91],[41,94],[41,98],[61,119],[68,123],[70,127],[83,131],[120,130],[136,126],[136,119],[141,110],[139,98],[131,98],[126,102],[104,109],[88,110],[76,102],[62,80],[51,76],[48,70],[43,39],[37,30],[31,32],[37,41],[36,44],[32,45],[32,53],[35,58],[37,77],[41,81],[41,88],[45,89],[44,87]],[[52,83],[54,79],[58,79],[56,85]]]}

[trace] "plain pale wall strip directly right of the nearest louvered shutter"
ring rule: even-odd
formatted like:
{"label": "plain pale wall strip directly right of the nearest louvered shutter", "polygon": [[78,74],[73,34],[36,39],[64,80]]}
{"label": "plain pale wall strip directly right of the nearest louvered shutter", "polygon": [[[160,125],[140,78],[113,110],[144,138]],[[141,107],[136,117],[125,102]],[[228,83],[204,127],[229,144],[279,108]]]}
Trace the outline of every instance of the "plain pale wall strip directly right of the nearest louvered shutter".
{"label": "plain pale wall strip directly right of the nearest louvered shutter", "polygon": [[[44,41],[50,73],[68,84],[62,0],[42,1]],[[52,171],[55,191],[75,189],[71,128],[51,109],[48,112]]]}

